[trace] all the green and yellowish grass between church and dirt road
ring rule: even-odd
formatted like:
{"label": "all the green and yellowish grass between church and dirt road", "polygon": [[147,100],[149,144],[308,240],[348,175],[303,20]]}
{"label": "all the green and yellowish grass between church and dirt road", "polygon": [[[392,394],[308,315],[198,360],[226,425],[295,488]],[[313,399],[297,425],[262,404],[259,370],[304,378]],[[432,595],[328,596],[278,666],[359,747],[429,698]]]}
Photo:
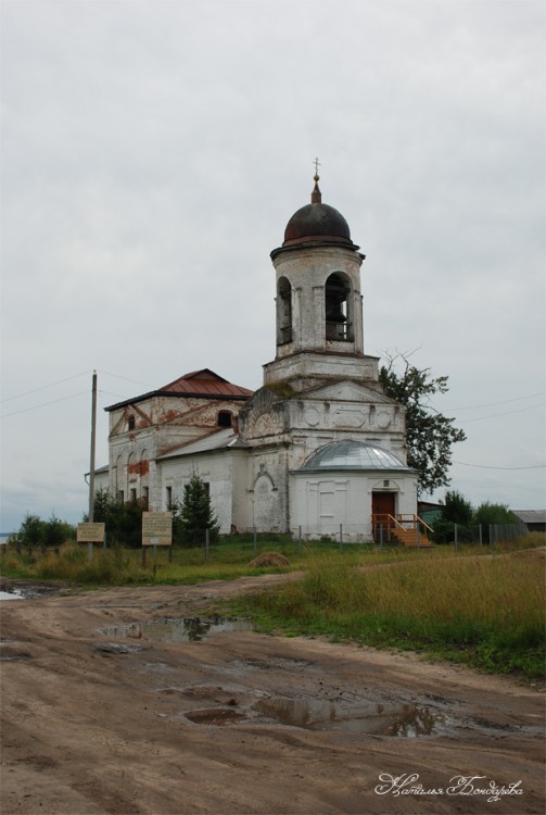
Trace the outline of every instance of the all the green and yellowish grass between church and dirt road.
{"label": "all the green and yellowish grass between church and dirt road", "polygon": [[[410,649],[493,673],[544,677],[544,535],[495,547],[385,549],[303,546],[285,538],[176,549],[173,563],[149,551],[65,544],[59,553],[3,548],[4,577],[71,585],[194,584],[265,572],[302,570],[302,579],[232,605],[261,630],[325,636],[379,648]],[[255,553],[282,553],[285,567],[250,566]]]}

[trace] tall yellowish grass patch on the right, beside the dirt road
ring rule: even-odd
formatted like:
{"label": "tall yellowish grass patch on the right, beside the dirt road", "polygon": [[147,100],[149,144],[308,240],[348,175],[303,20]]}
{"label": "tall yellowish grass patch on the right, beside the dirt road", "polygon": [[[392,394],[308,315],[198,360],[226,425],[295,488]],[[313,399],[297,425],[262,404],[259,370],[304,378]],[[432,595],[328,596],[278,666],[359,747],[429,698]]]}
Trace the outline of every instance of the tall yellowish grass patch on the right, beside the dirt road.
{"label": "tall yellowish grass patch on the right, beside the dirt road", "polygon": [[421,556],[364,569],[322,557],[302,581],[244,604],[268,630],[429,651],[528,678],[544,675],[541,550]]}

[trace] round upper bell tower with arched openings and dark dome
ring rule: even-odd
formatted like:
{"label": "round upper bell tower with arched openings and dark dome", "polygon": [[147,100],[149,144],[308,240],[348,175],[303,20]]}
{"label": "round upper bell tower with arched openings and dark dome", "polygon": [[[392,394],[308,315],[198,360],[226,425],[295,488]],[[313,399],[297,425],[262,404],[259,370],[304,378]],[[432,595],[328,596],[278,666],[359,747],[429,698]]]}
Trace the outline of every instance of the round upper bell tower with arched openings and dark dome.
{"label": "round upper bell tower with arched openings and dark dome", "polygon": [[310,203],[290,218],[274,249],[277,352],[264,384],[301,391],[325,380],[377,379],[377,360],[364,354],[360,266],[365,259],[338,210],[322,203],[315,173]]}

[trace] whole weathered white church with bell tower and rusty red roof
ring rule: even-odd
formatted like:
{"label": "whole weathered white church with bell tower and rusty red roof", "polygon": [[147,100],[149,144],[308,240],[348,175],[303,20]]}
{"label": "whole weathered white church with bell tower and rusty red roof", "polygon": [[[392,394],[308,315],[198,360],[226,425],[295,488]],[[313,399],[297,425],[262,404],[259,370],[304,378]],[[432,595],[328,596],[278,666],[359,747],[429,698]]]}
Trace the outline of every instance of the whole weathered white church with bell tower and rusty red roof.
{"label": "whole weathered white church with bell tower and rusty red roof", "polygon": [[124,500],[162,511],[193,473],[223,532],[377,537],[388,516],[411,528],[418,474],[406,465],[404,408],[364,352],[360,267],[345,218],[310,203],[271,252],[277,353],[256,392],[208,368],[106,408],[110,462],[96,474]]}

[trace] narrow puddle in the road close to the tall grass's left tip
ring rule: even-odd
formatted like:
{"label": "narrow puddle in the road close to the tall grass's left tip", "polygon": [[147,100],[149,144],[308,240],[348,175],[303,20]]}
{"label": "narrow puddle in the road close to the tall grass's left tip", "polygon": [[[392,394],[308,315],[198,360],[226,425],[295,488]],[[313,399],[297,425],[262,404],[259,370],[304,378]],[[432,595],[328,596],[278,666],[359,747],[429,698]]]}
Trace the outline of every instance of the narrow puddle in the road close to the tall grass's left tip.
{"label": "narrow puddle in the road close to the tall grass's left tip", "polygon": [[100,634],[109,637],[151,640],[153,642],[199,642],[221,631],[250,631],[252,624],[242,618],[178,617],[131,623],[128,626],[109,626]]}

